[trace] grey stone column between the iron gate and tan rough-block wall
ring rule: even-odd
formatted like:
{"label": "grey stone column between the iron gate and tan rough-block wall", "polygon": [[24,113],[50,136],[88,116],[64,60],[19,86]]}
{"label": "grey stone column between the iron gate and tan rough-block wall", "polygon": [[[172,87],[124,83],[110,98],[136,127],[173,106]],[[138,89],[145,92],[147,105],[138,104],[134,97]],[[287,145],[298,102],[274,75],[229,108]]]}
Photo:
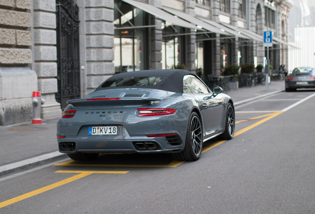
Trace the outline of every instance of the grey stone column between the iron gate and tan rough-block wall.
{"label": "grey stone column between the iron gate and tan rough-block wall", "polygon": [[38,91],[45,104],[41,117],[61,116],[60,104],[55,100],[58,90],[56,48],[56,5],[55,0],[33,0],[33,69],[38,76]]}

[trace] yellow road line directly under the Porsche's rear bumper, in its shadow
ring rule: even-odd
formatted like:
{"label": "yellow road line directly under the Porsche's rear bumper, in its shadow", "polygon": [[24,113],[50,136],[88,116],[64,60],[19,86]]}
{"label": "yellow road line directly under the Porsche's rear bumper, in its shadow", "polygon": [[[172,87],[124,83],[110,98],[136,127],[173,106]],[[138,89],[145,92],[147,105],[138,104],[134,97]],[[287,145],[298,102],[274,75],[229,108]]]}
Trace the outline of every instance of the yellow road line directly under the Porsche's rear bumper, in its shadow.
{"label": "yellow road line directly under the Porsche's rear bumper, in its shadow", "polygon": [[169,164],[166,165],[144,165],[144,164],[85,164],[85,163],[74,163],[76,160],[70,160],[62,163],[57,163],[54,165],[63,165],[63,166],[100,166],[100,167],[176,167],[182,164],[185,161],[172,160]]}

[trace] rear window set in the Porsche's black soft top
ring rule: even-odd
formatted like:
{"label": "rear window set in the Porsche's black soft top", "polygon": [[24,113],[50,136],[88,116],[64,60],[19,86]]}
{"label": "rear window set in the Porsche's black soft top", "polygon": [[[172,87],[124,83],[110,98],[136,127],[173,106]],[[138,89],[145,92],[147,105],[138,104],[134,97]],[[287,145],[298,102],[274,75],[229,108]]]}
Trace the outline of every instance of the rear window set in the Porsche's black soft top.
{"label": "rear window set in the Porsche's black soft top", "polygon": [[112,79],[106,81],[102,88],[106,87],[123,87],[123,86],[153,86],[157,85],[162,77],[127,77],[120,79]]}

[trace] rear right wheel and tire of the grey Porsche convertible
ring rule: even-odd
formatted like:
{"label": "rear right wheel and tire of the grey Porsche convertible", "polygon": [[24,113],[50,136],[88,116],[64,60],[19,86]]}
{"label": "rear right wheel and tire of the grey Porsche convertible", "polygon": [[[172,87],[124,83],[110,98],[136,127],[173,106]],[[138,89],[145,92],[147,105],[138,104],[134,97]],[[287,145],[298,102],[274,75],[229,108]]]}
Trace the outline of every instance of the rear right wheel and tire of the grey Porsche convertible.
{"label": "rear right wheel and tire of the grey Porsche convertible", "polygon": [[173,153],[173,159],[183,161],[195,161],[201,156],[203,149],[203,131],[200,118],[196,112],[192,112],[188,120],[185,148],[181,153]]}

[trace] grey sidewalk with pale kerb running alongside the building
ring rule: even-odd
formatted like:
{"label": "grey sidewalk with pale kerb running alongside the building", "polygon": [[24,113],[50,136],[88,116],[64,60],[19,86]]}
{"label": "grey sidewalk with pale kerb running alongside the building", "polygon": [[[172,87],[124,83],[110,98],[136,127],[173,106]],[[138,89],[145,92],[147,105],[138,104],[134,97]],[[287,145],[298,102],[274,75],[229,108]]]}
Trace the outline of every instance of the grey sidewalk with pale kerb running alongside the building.
{"label": "grey sidewalk with pale kerb running alongside the building", "polygon": [[[272,81],[268,86],[257,85],[226,92],[234,106],[284,90],[284,81]],[[42,124],[32,122],[0,126],[0,177],[30,167],[62,160],[68,156],[58,152],[56,122],[58,118],[43,119]]]}

